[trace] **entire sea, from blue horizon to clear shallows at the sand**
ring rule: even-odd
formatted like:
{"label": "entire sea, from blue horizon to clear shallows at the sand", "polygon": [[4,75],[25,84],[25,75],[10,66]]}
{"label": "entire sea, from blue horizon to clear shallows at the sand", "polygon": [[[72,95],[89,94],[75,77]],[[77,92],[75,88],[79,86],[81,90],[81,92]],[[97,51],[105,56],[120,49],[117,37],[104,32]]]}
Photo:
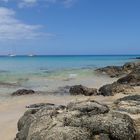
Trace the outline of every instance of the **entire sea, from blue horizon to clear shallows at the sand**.
{"label": "entire sea, from blue horizon to clear shallows at the sand", "polygon": [[98,87],[108,81],[94,70],[136,61],[139,55],[0,56],[0,95],[26,88],[43,92],[84,84]]}

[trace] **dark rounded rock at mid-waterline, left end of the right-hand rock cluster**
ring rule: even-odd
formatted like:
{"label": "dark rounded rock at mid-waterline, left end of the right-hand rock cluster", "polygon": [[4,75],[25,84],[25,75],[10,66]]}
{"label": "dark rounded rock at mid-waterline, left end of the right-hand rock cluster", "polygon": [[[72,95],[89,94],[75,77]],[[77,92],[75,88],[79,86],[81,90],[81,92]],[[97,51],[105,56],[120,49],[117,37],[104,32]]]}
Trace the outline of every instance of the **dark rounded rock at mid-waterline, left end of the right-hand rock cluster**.
{"label": "dark rounded rock at mid-waterline, left end of the right-hand rock cluster", "polygon": [[85,96],[97,95],[97,89],[87,88],[82,85],[72,86],[69,92],[71,95],[85,95]]}

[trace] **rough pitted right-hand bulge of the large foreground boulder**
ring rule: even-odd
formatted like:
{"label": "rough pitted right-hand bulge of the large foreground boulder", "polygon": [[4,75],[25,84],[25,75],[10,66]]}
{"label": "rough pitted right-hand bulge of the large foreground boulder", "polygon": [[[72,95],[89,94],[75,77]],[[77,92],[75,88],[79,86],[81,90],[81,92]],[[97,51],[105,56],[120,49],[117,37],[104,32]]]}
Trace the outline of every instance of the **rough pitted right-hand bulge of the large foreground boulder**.
{"label": "rough pitted right-hand bulge of the large foreground boulder", "polygon": [[128,115],[119,112],[68,118],[66,124],[87,128],[93,135],[106,133],[111,140],[134,140],[136,133],[133,120]]}

